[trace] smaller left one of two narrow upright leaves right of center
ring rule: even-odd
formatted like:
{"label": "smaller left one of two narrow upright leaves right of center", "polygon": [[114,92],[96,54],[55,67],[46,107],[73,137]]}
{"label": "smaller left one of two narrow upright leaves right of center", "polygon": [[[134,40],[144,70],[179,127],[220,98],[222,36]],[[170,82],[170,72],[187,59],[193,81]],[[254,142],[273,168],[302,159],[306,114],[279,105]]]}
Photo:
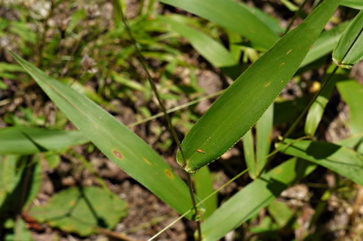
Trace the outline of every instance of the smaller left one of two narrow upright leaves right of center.
{"label": "smaller left one of two narrow upright leaves right of center", "polygon": [[243,135],[243,155],[245,157],[245,164],[248,167],[248,173],[252,179],[257,177],[256,158],[254,155],[254,140],[252,134],[252,128]]}

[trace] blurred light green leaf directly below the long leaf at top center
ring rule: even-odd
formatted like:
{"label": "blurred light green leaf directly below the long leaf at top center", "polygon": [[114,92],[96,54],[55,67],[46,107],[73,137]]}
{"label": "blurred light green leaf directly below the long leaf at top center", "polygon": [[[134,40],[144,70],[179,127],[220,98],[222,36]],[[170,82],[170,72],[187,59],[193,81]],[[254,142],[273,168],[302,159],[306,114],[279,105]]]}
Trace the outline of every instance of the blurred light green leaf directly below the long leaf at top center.
{"label": "blurred light green leaf directly below the long leaf at top center", "polygon": [[158,19],[165,21],[172,31],[178,32],[179,35],[188,39],[190,44],[212,65],[221,68],[238,64],[238,61],[222,44],[205,33],[189,27],[184,17],[167,15],[158,17]]}

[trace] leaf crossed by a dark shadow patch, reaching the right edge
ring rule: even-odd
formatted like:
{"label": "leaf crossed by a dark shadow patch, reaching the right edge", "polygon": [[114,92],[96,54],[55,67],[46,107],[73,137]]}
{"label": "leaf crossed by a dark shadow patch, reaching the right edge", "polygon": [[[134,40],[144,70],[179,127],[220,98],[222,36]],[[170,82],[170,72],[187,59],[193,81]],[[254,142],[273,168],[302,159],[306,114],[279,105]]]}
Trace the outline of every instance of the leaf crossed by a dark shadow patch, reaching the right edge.
{"label": "leaf crossed by a dark shadow patch, reaching the right edge", "polygon": [[[285,143],[295,142],[286,139]],[[277,148],[283,144],[277,144]],[[328,142],[299,141],[282,150],[283,153],[325,166],[353,182],[363,185],[363,155]]]}

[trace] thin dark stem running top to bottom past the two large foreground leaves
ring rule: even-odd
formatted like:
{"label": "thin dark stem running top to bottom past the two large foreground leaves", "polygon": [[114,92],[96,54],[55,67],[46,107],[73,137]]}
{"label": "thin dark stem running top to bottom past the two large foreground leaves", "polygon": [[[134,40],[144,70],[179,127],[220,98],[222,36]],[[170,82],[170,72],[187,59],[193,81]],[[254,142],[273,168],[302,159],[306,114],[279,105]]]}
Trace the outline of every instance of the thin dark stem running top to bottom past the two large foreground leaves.
{"label": "thin dark stem running top to bottom past the two large foreground leaves", "polygon": [[[124,12],[122,11],[122,6],[120,5],[120,15],[121,15],[121,19],[122,19],[122,22],[124,23],[124,27],[125,27],[125,30],[127,31],[128,35],[129,35],[129,38],[131,39],[131,42],[136,50],[136,56],[138,57],[138,60],[142,66],[142,68],[145,70],[145,73],[147,74],[147,79],[149,80],[149,83],[150,83],[150,86],[151,86],[151,89],[153,90],[153,93],[154,95],[156,96],[156,99],[158,99],[158,103],[159,103],[159,106],[162,110],[162,112],[164,113],[165,115],[165,118],[167,119],[167,124],[169,126],[169,129],[171,131],[171,134],[173,135],[174,137],[174,140],[179,148],[179,151],[180,151],[180,154],[182,155],[183,157],[183,164],[185,164],[187,162],[186,158],[185,158],[185,155],[184,155],[184,152],[183,152],[183,148],[180,144],[180,141],[178,139],[178,135],[176,135],[176,131],[175,131],[175,128],[173,126],[173,124],[171,124],[171,119],[167,113],[167,109],[165,108],[164,104],[162,103],[162,99],[160,98],[160,95],[158,93],[158,88],[156,88],[156,85],[153,81],[153,78],[151,77],[150,73],[149,73],[149,70],[147,69],[147,66],[145,64],[145,59],[144,57],[142,56],[139,48],[138,48],[138,45],[136,44],[136,39],[134,39],[133,37],[133,34],[131,32],[131,29],[129,28],[129,25],[127,24],[127,21],[126,21],[126,17],[124,16]],[[192,184],[192,178],[190,177],[190,173],[187,173],[187,171],[185,171],[186,175],[187,175],[187,182],[188,182],[188,187],[189,187],[189,193],[190,193],[190,196],[192,197],[192,202],[193,202],[193,206],[194,206],[194,211],[195,211],[195,215],[198,215],[198,208],[196,206],[196,200],[194,198],[194,191],[193,191],[193,184]],[[198,229],[198,240],[201,240],[201,222],[200,220],[196,220],[196,226],[197,226],[197,229]]]}

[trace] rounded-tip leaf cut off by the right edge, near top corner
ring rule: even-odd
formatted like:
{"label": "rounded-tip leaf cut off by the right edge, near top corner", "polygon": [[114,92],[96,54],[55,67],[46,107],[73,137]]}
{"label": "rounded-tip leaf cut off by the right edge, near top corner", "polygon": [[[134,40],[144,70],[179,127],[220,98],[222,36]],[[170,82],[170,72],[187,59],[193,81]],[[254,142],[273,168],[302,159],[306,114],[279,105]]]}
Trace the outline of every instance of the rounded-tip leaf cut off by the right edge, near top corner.
{"label": "rounded-tip leaf cut off by the right edge, near top corner", "polygon": [[[338,66],[351,68],[363,59],[363,10],[351,21],[333,51],[333,61]],[[353,46],[352,46],[353,44]]]}

